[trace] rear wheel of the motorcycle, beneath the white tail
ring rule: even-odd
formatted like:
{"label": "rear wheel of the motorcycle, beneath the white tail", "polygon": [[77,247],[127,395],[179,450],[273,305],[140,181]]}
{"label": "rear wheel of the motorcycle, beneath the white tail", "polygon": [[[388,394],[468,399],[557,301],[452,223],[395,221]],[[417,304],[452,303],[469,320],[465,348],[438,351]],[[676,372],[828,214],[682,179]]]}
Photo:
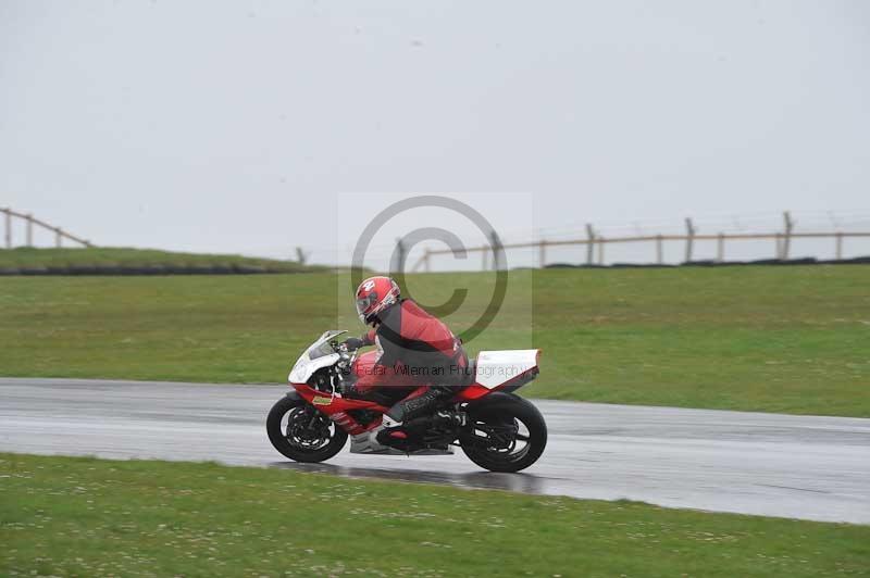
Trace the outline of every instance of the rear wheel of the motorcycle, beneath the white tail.
{"label": "rear wheel of the motorcycle, beneath the white tail", "polygon": [[469,430],[460,437],[469,460],[489,472],[520,472],[531,466],[547,447],[547,424],[531,402],[511,395],[490,407],[469,411]]}

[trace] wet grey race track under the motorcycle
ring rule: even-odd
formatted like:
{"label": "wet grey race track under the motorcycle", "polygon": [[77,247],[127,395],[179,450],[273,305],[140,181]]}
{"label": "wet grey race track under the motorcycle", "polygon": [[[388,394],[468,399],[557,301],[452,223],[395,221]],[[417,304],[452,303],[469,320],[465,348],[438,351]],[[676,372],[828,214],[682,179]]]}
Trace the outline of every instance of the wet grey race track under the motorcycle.
{"label": "wet grey race track under the motorcycle", "polygon": [[265,436],[265,415],[285,390],[0,379],[0,451],[209,460],[870,524],[870,419],[538,400],[549,442],[521,474],[481,470],[460,451],[406,457],[346,448],[309,465],[286,461]]}

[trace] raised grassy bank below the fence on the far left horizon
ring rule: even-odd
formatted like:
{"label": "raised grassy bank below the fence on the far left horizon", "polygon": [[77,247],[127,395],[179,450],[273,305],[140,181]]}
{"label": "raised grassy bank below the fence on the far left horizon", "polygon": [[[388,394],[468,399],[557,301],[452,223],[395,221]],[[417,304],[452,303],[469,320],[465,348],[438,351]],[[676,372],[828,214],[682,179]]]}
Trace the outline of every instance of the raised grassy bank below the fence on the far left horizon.
{"label": "raised grassy bank below the fence on the far left horizon", "polygon": [[322,269],[300,265],[291,261],[256,259],[241,255],[176,253],[154,249],[126,249],[117,247],[89,249],[37,249],[21,247],[0,249],[0,269],[51,271],[67,267],[115,267],[141,266],[210,267],[245,266],[269,272],[297,273]]}

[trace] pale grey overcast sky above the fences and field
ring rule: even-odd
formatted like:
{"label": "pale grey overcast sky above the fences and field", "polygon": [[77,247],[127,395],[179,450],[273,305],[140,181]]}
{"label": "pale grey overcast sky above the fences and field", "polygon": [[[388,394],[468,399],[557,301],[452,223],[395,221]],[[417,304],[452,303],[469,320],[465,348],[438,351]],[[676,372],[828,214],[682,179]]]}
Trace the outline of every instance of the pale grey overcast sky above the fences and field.
{"label": "pale grey overcast sky above the fences and field", "polygon": [[103,246],[867,215],[868,103],[861,0],[0,0],[0,205]]}

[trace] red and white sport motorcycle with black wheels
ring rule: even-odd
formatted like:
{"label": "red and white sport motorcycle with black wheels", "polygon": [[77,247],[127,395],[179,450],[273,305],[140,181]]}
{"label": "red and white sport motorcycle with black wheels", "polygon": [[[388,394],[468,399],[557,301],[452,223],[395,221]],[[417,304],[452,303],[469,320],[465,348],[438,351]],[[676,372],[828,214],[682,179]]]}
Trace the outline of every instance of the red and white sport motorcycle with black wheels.
{"label": "red and white sport motorcycle with black wheels", "polygon": [[513,393],[537,377],[539,350],[480,352],[463,385],[438,409],[437,415],[450,419],[418,418],[407,434],[382,442],[375,432],[384,414],[408,390],[348,395],[348,386],[372,370],[377,353],[349,351],[336,340],[346,332],[326,331],[302,353],[288,376],[290,391],[269,412],[269,439],[285,456],[323,462],[350,437],[351,453],[444,455],[459,447],[490,472],[519,472],[540,457],[547,425],[537,407]]}

